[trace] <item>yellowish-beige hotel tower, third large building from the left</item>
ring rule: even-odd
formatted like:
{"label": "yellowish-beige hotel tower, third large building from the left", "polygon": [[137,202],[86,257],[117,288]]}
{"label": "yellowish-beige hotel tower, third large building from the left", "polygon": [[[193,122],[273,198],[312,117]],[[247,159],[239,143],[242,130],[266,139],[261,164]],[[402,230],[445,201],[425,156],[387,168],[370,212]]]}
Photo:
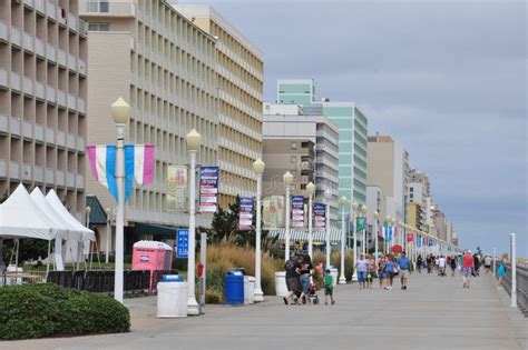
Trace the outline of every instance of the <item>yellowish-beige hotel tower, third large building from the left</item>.
{"label": "yellowish-beige hotel tower, third large building from the left", "polygon": [[216,39],[221,206],[254,196],[253,162],[262,157],[264,56],[212,7],[178,4],[178,11]]}

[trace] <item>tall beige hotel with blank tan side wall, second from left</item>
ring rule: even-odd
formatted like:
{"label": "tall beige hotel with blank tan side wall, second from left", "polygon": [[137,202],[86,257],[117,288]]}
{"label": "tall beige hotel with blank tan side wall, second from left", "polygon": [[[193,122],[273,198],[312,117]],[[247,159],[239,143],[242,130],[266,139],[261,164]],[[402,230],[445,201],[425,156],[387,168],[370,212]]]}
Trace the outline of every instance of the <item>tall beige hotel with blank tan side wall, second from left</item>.
{"label": "tall beige hotel with blank tan side wall, second from left", "polygon": [[[130,196],[128,230],[135,226],[135,233],[165,231],[174,238],[164,227],[188,226],[188,214],[167,211],[167,168],[188,164],[190,129],[202,134],[197,163],[218,163],[216,40],[170,1],[80,0],[79,11],[89,23],[88,143],[115,143],[110,104],[118,97],[127,100],[133,112],[126,142],[156,147],[155,180]],[[87,178],[87,192],[113,208],[107,189]],[[211,219],[198,214],[196,224],[207,227]]]}

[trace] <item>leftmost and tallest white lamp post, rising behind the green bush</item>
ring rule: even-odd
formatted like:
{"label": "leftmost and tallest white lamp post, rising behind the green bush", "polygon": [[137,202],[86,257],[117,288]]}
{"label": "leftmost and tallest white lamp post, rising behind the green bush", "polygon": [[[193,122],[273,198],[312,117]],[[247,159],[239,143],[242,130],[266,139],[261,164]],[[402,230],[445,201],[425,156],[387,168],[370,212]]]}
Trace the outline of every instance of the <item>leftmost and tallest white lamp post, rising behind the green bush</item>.
{"label": "leftmost and tallest white lamp post, rising behind the green bush", "polygon": [[130,106],[118,98],[110,107],[111,116],[117,128],[116,153],[116,183],[117,183],[117,211],[116,211],[116,269],[114,283],[114,298],[123,303],[123,279],[125,259],[125,127],[130,118]]}

